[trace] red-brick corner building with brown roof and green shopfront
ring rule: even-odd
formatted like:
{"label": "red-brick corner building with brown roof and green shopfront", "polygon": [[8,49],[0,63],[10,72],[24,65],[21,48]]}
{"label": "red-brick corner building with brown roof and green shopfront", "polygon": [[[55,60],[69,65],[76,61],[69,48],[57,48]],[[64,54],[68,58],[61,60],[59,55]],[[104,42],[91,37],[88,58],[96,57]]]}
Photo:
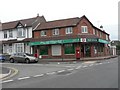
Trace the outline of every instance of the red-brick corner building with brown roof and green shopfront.
{"label": "red-brick corner building with brown roof and green shopfront", "polygon": [[29,46],[42,58],[76,58],[109,55],[109,34],[84,15],[48,21],[33,30]]}

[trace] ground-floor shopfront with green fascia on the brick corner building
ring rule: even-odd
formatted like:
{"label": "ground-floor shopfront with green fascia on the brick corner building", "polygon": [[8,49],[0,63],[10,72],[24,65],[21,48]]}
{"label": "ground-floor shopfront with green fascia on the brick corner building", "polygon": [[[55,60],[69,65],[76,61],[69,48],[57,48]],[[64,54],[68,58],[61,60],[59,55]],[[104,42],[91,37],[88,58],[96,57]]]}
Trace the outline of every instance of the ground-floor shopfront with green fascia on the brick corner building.
{"label": "ground-floor shopfront with green fascia on the brick corner building", "polygon": [[81,57],[97,57],[107,55],[109,42],[98,38],[74,38],[65,40],[50,40],[30,42],[34,53],[42,58],[76,58],[76,49],[79,48]]}

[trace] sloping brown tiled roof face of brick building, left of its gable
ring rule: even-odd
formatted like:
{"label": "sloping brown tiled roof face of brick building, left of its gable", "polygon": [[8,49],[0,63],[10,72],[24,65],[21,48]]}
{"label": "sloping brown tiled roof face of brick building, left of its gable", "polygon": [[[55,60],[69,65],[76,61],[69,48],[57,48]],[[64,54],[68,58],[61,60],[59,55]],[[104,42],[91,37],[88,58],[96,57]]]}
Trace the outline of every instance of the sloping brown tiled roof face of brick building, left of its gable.
{"label": "sloping brown tiled roof face of brick building, left of its gable", "polygon": [[48,21],[46,23],[41,23],[36,30],[44,30],[44,29],[52,29],[52,28],[60,28],[67,26],[76,26],[79,23],[80,18],[69,18],[55,21]]}

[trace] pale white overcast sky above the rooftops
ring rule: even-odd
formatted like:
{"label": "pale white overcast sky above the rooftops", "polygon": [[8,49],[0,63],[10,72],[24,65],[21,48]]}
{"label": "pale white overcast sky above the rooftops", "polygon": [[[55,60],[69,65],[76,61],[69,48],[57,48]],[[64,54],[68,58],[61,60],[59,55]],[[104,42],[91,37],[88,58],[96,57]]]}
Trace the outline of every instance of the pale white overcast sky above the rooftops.
{"label": "pale white overcast sky above the rooftops", "polygon": [[119,0],[0,0],[0,20],[9,22],[44,16],[47,21],[81,17],[87,18],[118,40]]}

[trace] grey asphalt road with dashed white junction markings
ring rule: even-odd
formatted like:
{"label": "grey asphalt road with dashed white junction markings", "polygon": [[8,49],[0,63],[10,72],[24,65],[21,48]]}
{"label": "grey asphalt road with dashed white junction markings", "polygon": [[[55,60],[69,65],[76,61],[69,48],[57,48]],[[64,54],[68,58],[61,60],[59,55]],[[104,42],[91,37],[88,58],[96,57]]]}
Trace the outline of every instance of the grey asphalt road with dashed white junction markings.
{"label": "grey asphalt road with dashed white junction markings", "polygon": [[14,66],[21,72],[3,81],[3,88],[118,88],[118,58],[99,63]]}

